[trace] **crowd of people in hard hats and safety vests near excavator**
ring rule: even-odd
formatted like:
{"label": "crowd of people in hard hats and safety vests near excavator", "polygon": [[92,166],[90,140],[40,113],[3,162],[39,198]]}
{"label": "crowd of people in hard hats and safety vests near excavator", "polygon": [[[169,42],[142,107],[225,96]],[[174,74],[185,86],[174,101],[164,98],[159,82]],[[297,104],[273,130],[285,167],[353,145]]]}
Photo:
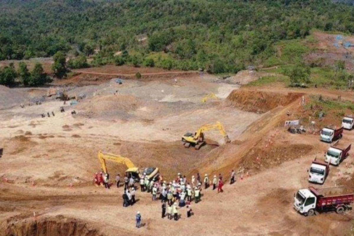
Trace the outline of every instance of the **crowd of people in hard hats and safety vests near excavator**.
{"label": "crowd of people in hard hats and safety vests near excavator", "polygon": [[[232,170],[230,173],[230,184],[235,182],[235,175],[236,172]],[[103,185],[107,189],[110,187],[109,175],[107,173],[96,173],[94,182],[97,186]],[[116,175],[115,182],[117,188],[120,188],[121,178],[119,174]],[[191,202],[194,201],[198,203],[201,201],[202,185],[204,185],[204,189],[207,189],[212,183],[212,190],[217,189],[218,193],[223,192],[222,188],[224,185],[221,174],[219,174],[218,177],[214,175],[213,179],[210,180],[207,174],[205,174],[202,179],[200,174],[197,173],[196,177],[193,175],[190,181],[188,181],[185,175],[182,177],[181,173],[178,173],[176,179],[173,179],[169,183],[163,180],[161,175],[157,178],[149,179],[147,175],[143,173],[140,179],[135,180],[132,175],[126,174],[122,180],[122,183],[124,183],[124,193],[122,195],[124,207],[132,206],[136,203],[136,182],[140,185],[142,192],[151,194],[152,201],[161,201],[161,217],[174,220],[178,220],[178,211],[183,207],[187,209],[187,218],[192,215]],[[136,227],[140,227],[140,221],[141,214],[138,212],[136,214]]]}

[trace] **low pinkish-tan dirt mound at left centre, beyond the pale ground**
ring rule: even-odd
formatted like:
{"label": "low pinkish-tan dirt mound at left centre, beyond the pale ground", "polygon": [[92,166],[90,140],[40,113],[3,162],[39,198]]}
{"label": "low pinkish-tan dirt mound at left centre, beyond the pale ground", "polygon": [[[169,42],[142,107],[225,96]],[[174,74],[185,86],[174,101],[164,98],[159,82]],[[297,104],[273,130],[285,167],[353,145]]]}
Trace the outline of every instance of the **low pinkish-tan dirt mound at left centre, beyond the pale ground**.
{"label": "low pinkish-tan dirt mound at left centre, beyond the pale ground", "polygon": [[127,119],[131,116],[129,112],[141,104],[141,100],[131,95],[105,95],[82,100],[77,109],[80,115],[89,118]]}

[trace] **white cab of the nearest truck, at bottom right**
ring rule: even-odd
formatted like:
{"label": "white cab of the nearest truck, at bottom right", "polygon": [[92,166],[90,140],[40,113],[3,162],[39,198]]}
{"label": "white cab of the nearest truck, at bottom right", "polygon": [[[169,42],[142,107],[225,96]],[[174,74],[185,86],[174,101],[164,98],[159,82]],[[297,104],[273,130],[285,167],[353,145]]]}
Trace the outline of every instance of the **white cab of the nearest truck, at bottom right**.
{"label": "white cab of the nearest truck, at bottom right", "polygon": [[294,208],[301,214],[314,215],[317,197],[309,189],[300,189],[294,196]]}

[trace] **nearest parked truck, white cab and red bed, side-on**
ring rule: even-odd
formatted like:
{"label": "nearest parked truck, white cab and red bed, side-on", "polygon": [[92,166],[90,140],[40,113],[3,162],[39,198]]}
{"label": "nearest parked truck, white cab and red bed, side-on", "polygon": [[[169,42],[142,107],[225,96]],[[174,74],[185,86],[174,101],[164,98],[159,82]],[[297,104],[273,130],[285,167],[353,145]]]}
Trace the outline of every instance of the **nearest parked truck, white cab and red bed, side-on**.
{"label": "nearest parked truck, white cab and red bed, side-on", "polygon": [[351,210],[350,203],[354,201],[354,193],[343,194],[338,190],[344,190],[343,186],[300,189],[294,194],[293,207],[297,212],[306,216],[314,215],[315,212],[335,211],[341,214]]}

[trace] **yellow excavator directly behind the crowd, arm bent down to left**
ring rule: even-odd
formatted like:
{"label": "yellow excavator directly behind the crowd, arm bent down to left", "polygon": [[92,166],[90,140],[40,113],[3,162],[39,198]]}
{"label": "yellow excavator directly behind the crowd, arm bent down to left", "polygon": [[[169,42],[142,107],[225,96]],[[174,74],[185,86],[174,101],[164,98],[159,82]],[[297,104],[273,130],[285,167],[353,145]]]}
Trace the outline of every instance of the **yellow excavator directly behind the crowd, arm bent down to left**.
{"label": "yellow excavator directly behind the crowd, arm bent down to left", "polygon": [[107,173],[106,160],[110,160],[126,165],[128,169],[125,171],[125,173],[132,175],[133,179],[139,179],[141,176],[140,173],[145,173],[149,180],[156,178],[159,175],[159,168],[157,167],[147,167],[139,172],[139,168],[136,167],[133,162],[129,160],[129,158],[120,155],[99,151],[98,160],[104,173]]}

